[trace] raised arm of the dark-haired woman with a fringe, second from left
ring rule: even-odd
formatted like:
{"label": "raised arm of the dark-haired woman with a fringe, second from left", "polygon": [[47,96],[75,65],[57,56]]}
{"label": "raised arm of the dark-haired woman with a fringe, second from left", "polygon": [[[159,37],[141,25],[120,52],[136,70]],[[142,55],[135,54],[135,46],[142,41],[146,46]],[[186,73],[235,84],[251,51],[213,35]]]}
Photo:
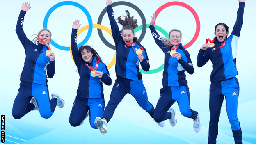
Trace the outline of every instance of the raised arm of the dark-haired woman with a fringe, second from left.
{"label": "raised arm of the dark-haired woman with a fringe, second from left", "polygon": [[81,61],[82,56],[78,52],[78,47],[77,47],[77,31],[80,27],[79,21],[75,20],[72,25],[72,33],[71,33],[71,50],[72,50],[72,55],[73,59],[75,61],[75,64],[78,65],[78,63]]}

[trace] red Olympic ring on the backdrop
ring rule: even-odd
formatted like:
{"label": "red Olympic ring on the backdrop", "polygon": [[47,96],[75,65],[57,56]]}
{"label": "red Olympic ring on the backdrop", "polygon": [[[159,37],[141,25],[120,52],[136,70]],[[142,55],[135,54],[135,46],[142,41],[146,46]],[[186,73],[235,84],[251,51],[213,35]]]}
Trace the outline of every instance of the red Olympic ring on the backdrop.
{"label": "red Olympic ring on the backdrop", "polygon": [[[167,2],[166,4],[162,5],[161,7],[159,7],[155,11],[155,19],[157,18],[158,14],[163,9],[165,9],[166,7],[174,6],[174,5],[178,5],[178,6],[185,7],[186,9],[188,9],[193,14],[193,16],[194,16],[194,18],[196,20],[197,28],[196,28],[196,32],[194,34],[194,37],[191,39],[190,42],[188,42],[187,44],[185,44],[183,46],[184,48],[189,48],[197,40],[197,38],[199,36],[199,32],[200,32],[200,20],[199,20],[199,17],[197,15],[197,12],[192,7],[190,7],[189,5],[187,5],[187,4],[183,3],[183,2]],[[155,22],[153,24],[155,25]]]}

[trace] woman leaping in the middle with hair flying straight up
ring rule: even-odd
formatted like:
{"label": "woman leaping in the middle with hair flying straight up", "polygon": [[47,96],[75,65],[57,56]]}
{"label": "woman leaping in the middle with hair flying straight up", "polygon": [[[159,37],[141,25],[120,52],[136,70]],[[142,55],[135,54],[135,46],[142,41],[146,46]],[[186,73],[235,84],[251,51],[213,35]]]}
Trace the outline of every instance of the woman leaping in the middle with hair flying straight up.
{"label": "woman leaping in the middle with hair flying straight up", "polygon": [[[126,94],[131,94],[143,110],[153,118],[155,108],[148,101],[146,89],[142,82],[142,74],[139,72],[139,63],[144,71],[149,71],[149,59],[146,49],[137,41],[134,29],[138,27],[137,19],[133,19],[126,10],[127,16],[124,19],[119,16],[117,22],[123,28],[119,31],[117,22],[114,19],[114,12],[111,6],[112,0],[107,0],[107,14],[114,42],[116,44],[116,75],[117,79],[110,94],[110,101],[103,113],[103,119],[97,117],[95,125],[101,133],[107,133],[107,122],[110,121],[114,110]],[[120,34],[121,33],[121,34]]]}

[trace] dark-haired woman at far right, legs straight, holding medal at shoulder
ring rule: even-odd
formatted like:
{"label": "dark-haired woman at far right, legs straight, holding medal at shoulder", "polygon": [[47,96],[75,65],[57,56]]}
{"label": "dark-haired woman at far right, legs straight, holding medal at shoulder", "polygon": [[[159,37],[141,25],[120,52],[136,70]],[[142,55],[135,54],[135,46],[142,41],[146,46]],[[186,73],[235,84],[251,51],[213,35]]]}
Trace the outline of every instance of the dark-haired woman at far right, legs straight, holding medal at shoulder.
{"label": "dark-haired woman at far right, legs straight, holding medal at shoulder", "polygon": [[[198,67],[205,65],[209,59],[213,64],[213,70],[210,75],[208,144],[216,144],[219,115],[224,97],[235,144],[242,144],[242,131],[237,116],[239,83],[236,78],[238,71],[235,64],[237,43],[243,24],[245,0],[238,1],[237,18],[231,35],[228,37],[229,27],[226,24],[217,24],[214,32],[215,38],[213,40],[207,39],[206,44],[203,44],[197,55]],[[210,44],[208,41],[210,41]]]}

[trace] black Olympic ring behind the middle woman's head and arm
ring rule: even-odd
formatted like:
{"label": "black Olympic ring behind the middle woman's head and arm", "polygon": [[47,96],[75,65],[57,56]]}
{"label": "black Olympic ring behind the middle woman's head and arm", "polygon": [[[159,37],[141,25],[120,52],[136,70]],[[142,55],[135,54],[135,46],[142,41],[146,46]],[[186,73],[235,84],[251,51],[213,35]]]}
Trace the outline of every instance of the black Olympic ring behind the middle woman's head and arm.
{"label": "black Olympic ring behind the middle woman's head and arm", "polygon": [[[139,13],[139,16],[142,18],[142,34],[139,36],[139,39],[138,41],[141,42],[142,39],[144,38],[145,34],[146,34],[146,18],[144,16],[144,14],[142,13],[142,11],[136,6],[136,5],[133,5],[132,3],[130,2],[114,2],[112,3],[112,7],[115,7],[115,6],[118,6],[118,5],[126,5],[126,6],[129,6],[133,9],[135,9],[135,11],[137,11]],[[107,12],[107,7],[105,7],[105,9],[103,9],[103,11],[101,11],[101,14],[98,18],[98,24],[101,25],[101,22],[102,22],[102,19],[103,19],[103,16],[104,14]],[[109,48],[113,49],[113,50],[116,50],[116,47],[114,45],[112,45],[111,43],[109,43],[103,36],[102,34],[102,30],[101,29],[98,29],[98,35],[99,37],[101,38],[101,41],[106,45],[108,46]]]}

